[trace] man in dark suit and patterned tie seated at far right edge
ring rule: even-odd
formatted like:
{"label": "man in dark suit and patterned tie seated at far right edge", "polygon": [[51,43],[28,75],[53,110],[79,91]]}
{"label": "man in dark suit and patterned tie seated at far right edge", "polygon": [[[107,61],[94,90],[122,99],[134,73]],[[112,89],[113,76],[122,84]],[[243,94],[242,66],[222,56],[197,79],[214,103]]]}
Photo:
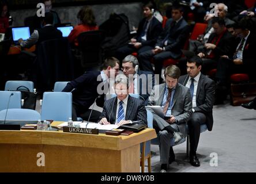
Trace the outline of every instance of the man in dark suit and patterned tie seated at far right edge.
{"label": "man in dark suit and patterned tie seated at far right edge", "polygon": [[232,55],[223,55],[218,62],[216,78],[221,86],[227,85],[229,75],[236,72],[249,74],[250,81],[256,81],[256,34],[253,30],[249,30],[249,22],[250,19],[245,17],[234,25],[240,40],[239,44],[235,45]]}

